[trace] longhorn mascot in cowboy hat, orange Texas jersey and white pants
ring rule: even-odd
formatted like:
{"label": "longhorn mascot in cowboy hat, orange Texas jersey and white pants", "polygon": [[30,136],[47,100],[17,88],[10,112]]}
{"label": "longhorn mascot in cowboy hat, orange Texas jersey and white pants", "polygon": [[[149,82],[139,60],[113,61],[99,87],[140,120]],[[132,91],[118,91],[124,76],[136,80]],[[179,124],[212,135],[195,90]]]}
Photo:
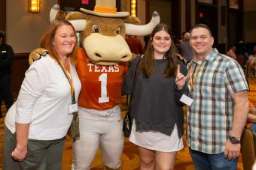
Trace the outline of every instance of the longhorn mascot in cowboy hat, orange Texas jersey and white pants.
{"label": "longhorn mascot in cowboy hat, orange Texas jersey and white pants", "polygon": [[[57,8],[54,5],[50,11],[51,20]],[[99,146],[104,169],[120,169],[123,120],[119,104],[127,61],[132,58],[125,34],[151,34],[160,16],[154,12],[147,25],[130,24],[132,17],[117,12],[115,0],[96,0],[94,11],[80,10],[66,16],[76,31],[83,31],[83,48],[78,50],[76,65],[82,84],[78,99],[80,137],[73,140],[72,169],[90,169]]]}

